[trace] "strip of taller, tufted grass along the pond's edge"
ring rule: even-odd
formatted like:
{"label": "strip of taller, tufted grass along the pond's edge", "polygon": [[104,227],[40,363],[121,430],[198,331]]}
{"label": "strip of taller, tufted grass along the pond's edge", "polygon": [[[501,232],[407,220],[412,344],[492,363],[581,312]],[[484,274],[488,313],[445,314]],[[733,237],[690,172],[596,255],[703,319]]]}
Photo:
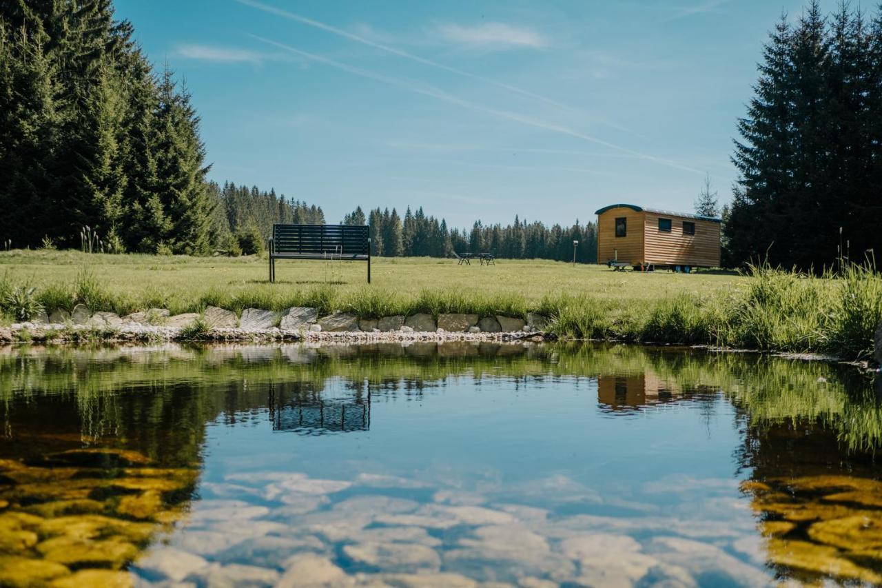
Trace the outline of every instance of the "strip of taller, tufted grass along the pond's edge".
{"label": "strip of taller, tufted grass along the pond's edge", "polygon": [[[0,301],[12,300],[26,283],[9,272],[0,277]],[[93,311],[120,315],[149,308],[171,313],[201,313],[220,306],[242,313],[249,307],[281,311],[310,306],[319,313],[355,313],[362,318],[393,314],[475,313],[526,318],[541,313],[553,319],[551,332],[561,337],[621,340],[635,343],[714,344],[765,351],[821,352],[841,358],[866,358],[873,351],[875,329],[882,321],[882,276],[872,264],[847,265],[824,275],[754,266],[729,290],[662,291],[658,298],[635,302],[617,296],[620,284],[604,291],[564,292],[538,301],[517,290],[475,287],[389,290],[344,289],[331,283],[303,287],[234,281],[183,296],[155,287],[108,290],[90,268],[72,283],[48,283],[34,298],[48,313],[83,304]],[[2,305],[6,321],[13,305]]]}

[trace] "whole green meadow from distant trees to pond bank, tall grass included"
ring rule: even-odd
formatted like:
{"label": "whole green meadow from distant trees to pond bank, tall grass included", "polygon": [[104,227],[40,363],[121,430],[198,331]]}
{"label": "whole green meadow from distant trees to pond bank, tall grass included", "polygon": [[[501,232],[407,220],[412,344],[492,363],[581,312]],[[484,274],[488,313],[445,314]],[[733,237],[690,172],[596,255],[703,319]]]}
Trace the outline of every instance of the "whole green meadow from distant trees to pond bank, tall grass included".
{"label": "whole green meadow from distant trees to pond bank, tall grass included", "polygon": [[[378,258],[372,282],[362,262],[277,261],[268,283],[258,257],[0,253],[0,311],[17,313],[21,290],[47,310],[84,303],[121,315],[217,305],[236,312],[314,306],[364,318],[478,313],[556,319],[558,335],[654,343],[715,343],[776,351],[871,354],[882,320],[882,278],[863,268],[812,277],[762,268],[752,275],[614,272],[545,260]],[[17,306],[18,305],[18,306]]]}

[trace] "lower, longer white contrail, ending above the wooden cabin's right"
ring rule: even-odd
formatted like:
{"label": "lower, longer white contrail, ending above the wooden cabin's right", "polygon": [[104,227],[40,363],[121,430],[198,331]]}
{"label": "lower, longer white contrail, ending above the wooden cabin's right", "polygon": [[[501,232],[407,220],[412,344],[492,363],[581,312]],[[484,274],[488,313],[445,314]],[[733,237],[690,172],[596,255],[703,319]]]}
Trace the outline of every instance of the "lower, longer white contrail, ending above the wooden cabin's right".
{"label": "lower, longer white contrail, ending above the wooden cabin's right", "polygon": [[[238,0],[239,2],[243,2],[244,0]],[[248,0],[250,1],[250,0]],[[574,129],[571,129],[566,126],[562,126],[559,124],[549,123],[538,118],[527,117],[524,115],[520,115],[516,112],[510,112],[508,110],[499,110],[493,109],[488,106],[484,106],[482,104],[478,104],[477,102],[470,102],[464,100],[458,96],[454,96],[453,94],[448,94],[444,90],[441,90],[437,87],[431,86],[430,84],[420,83],[416,84],[411,81],[407,81],[404,79],[391,78],[389,76],[385,76],[381,73],[370,72],[368,70],[363,70],[359,67],[354,67],[352,65],[344,64],[339,61],[335,61],[328,57],[322,57],[316,55],[315,53],[310,53],[308,51],[303,51],[301,49],[295,49],[294,47],[290,47],[278,41],[273,41],[271,39],[266,39],[264,37],[258,36],[256,34],[250,35],[254,39],[258,41],[265,42],[268,45],[272,45],[273,47],[284,49],[286,51],[290,51],[291,53],[298,55],[300,57],[305,57],[310,59],[311,61],[318,62],[320,64],[329,65],[336,69],[342,70],[344,72],[349,72],[355,74],[357,76],[362,76],[363,78],[375,79],[377,81],[383,82],[390,86],[400,87],[409,92],[415,92],[416,94],[423,94],[426,96],[431,96],[437,100],[441,100],[444,102],[449,102],[451,104],[456,104],[464,109],[475,110],[478,112],[483,112],[486,114],[493,115],[494,117],[505,118],[506,120],[511,120],[520,124],[526,124],[528,126],[532,126],[534,128],[544,129],[550,132],[558,132],[564,135],[569,135],[570,137],[575,137],[577,139],[582,139],[589,141],[591,143],[602,145],[603,147],[609,147],[610,149],[615,149],[619,152],[626,153],[628,155],[633,155],[635,157],[639,157],[640,159],[647,160],[649,162],[661,163],[662,165],[666,165],[670,168],[674,168],[676,170],[684,170],[690,171],[692,173],[705,175],[704,171],[696,170],[695,168],[691,168],[683,163],[674,162],[669,159],[663,159],[661,157],[655,157],[654,155],[647,155],[645,153],[640,153],[639,151],[634,151],[633,149],[629,149],[627,147],[620,147],[615,143],[610,143],[609,141],[598,139],[596,137],[592,137],[591,135],[587,135],[584,132],[579,132]]]}

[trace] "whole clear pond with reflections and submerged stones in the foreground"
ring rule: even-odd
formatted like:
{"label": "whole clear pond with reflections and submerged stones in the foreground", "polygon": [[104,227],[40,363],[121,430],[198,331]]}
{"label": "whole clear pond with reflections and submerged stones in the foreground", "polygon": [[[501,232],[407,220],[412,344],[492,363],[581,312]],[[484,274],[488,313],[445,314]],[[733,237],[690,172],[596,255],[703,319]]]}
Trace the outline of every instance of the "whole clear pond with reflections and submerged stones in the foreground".
{"label": "whole clear pond with reflections and submerged stones in the foreground", "polygon": [[0,584],[882,583],[848,366],[581,343],[0,350]]}

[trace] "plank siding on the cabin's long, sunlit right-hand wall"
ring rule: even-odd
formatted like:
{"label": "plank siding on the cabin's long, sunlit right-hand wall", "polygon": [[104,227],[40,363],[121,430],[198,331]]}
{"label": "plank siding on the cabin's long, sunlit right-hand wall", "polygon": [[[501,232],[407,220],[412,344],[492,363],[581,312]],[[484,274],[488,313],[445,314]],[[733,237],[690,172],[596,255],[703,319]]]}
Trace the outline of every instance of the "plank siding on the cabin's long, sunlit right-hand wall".
{"label": "plank siding on the cabin's long, sunlit right-hand wall", "polygon": [[[643,261],[665,266],[720,266],[720,223],[645,211]],[[659,230],[659,219],[670,219],[671,230]],[[684,235],[683,222],[695,223],[695,235]],[[630,227],[629,227],[630,228]]]}

